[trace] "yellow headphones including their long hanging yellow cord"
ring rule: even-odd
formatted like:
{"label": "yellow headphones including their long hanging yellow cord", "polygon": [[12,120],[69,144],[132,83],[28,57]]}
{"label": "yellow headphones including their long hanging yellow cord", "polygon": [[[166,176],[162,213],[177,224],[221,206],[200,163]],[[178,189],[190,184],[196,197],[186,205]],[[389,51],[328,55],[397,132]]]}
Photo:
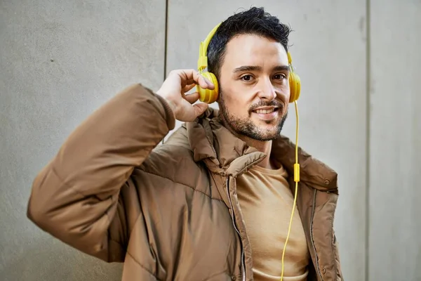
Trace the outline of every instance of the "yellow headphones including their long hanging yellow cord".
{"label": "yellow headphones including their long hanging yellow cord", "polygon": [[[206,77],[209,79],[214,85],[215,89],[203,89],[201,86],[196,86],[196,91],[199,92],[199,100],[204,103],[213,103],[218,99],[218,93],[219,93],[219,87],[218,87],[218,79],[216,79],[215,74],[211,72],[203,72],[203,70],[208,67],[208,57],[206,56],[206,53],[208,51],[208,46],[210,39],[212,39],[213,35],[215,34],[216,30],[218,30],[218,27],[220,26],[220,23],[213,27],[213,30],[211,30],[208,34],[208,37],[206,37],[205,41],[202,41],[200,43],[200,50],[199,50],[199,60],[197,61],[197,68],[200,72],[200,74],[203,77]],[[281,260],[281,281],[283,280],[283,270],[284,270],[284,261],[285,258],[285,252],[286,252],[286,245],[288,243],[288,239],[291,232],[291,226],[293,224],[293,216],[294,216],[294,210],[295,210],[295,204],[297,202],[297,195],[298,195],[298,182],[300,181],[300,164],[298,164],[298,127],[299,127],[299,119],[298,119],[298,105],[297,100],[300,97],[300,91],[301,91],[301,81],[300,77],[298,77],[298,74],[295,74],[293,65],[292,65],[292,58],[290,53],[287,53],[288,55],[288,65],[290,68],[290,74],[289,74],[289,85],[290,85],[290,103],[294,103],[295,105],[295,117],[296,117],[296,124],[295,124],[295,164],[293,166],[294,168],[294,181],[295,181],[295,194],[294,194],[294,203],[293,203],[293,210],[291,211],[290,216],[290,223],[288,226],[288,234],[286,235],[286,241],[283,245],[283,251],[282,251],[282,260]]]}

